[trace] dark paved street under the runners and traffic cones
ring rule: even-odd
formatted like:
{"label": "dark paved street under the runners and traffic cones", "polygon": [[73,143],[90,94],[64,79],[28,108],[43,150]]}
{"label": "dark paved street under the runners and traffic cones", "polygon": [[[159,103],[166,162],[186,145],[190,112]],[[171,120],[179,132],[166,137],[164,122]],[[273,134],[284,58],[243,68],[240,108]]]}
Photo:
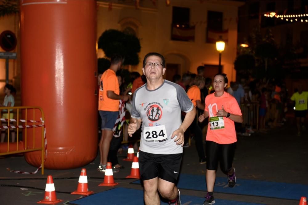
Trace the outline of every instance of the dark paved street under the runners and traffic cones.
{"label": "dark paved street under the runners and traffic cones", "polygon": [[[307,132],[300,137],[296,135],[296,127],[293,118],[289,118],[286,125],[274,128],[268,133],[254,133],[249,137],[238,136],[234,159],[237,179],[308,185],[307,143]],[[125,169],[114,174],[115,181],[119,183],[117,187],[142,190],[141,185],[129,184],[135,181],[135,179],[123,179],[125,176],[128,176],[131,171],[131,162],[122,161],[124,157],[126,157],[126,153],[122,153],[119,158]],[[89,190],[94,192],[106,191],[112,188],[98,186],[98,184],[103,182],[104,177],[103,173],[96,170],[98,162],[99,159],[96,158],[92,163],[84,166],[84,168],[87,169],[87,176],[89,177]],[[26,163],[23,157],[1,158],[0,204],[36,204],[37,201],[42,200],[44,197],[47,175],[53,176],[57,198],[62,199],[63,203],[78,199],[81,196],[69,194],[77,188],[81,168],[70,170],[45,170],[44,176],[42,176],[40,172],[35,175],[11,173],[7,171],[6,168],[26,172],[35,170],[34,167]],[[192,141],[192,145],[184,149],[181,173],[205,175],[205,170],[206,164],[199,164],[194,141]],[[220,168],[218,168],[217,176],[226,177],[221,172]],[[233,189],[236,188],[237,187],[234,187]],[[260,187],[256,187],[256,189],[260,189]],[[181,194],[203,197],[205,192],[181,189]],[[279,205],[297,205],[300,200],[241,195],[241,193],[227,194],[214,192],[214,196],[215,199]],[[128,202],[128,204],[130,203]]]}

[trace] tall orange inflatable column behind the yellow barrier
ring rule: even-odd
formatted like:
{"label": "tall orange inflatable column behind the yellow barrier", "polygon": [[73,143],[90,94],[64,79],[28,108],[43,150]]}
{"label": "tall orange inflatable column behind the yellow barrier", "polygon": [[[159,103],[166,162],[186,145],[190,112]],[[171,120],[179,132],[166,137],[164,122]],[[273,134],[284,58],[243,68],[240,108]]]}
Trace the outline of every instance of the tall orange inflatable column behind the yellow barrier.
{"label": "tall orange inflatable column behind the yellow barrier", "polygon": [[[20,15],[22,105],[40,106],[45,113],[45,167],[88,164],[98,145],[96,2],[22,1]],[[28,130],[30,148],[33,130]],[[35,147],[41,145],[41,132],[35,132]],[[37,167],[40,155],[25,158]]]}

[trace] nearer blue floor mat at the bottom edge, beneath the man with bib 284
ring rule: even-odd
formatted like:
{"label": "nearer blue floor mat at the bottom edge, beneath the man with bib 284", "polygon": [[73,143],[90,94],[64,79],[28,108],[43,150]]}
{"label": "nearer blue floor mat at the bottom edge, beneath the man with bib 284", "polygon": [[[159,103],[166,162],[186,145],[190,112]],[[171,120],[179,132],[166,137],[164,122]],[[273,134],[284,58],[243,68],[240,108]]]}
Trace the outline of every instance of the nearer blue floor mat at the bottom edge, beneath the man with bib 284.
{"label": "nearer blue floor mat at the bottom edge, beneath the man with bib 284", "polygon": [[[204,201],[203,197],[181,195],[182,204],[201,205]],[[231,201],[224,199],[215,199],[215,202],[220,205],[258,205],[260,203],[248,203],[240,201]],[[86,196],[81,199],[71,201],[67,204],[75,205],[142,205],[143,191],[128,188],[114,188],[107,191],[99,192],[93,195]],[[161,205],[167,205],[168,202],[162,202]]]}

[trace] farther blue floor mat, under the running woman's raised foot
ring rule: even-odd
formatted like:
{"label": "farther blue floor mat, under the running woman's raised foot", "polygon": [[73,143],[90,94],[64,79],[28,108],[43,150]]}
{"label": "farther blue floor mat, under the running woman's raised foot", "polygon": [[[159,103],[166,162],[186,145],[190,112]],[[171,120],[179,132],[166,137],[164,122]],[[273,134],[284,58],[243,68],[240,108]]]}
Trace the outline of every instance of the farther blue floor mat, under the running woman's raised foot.
{"label": "farther blue floor mat, under the running woman's raised foot", "polygon": [[[140,180],[133,182],[140,184]],[[205,175],[180,174],[178,188],[206,191]],[[214,192],[298,200],[308,198],[308,185],[237,179],[229,188],[227,177],[216,177]]]}

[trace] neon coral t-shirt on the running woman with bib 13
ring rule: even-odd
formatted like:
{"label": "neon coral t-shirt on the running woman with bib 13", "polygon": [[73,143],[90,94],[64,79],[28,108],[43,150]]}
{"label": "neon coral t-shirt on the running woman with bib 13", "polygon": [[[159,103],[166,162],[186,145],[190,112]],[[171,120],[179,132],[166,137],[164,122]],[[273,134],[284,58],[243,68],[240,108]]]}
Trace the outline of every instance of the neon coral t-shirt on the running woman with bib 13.
{"label": "neon coral t-shirt on the running woman with bib 13", "polygon": [[[215,97],[214,93],[206,96],[204,110],[209,113],[209,117],[217,117],[216,113],[218,110],[221,110],[221,106],[224,106],[225,111],[231,114],[242,115],[236,99],[229,93],[224,92],[220,97]],[[211,130],[210,125],[208,126],[206,140],[218,144],[231,144],[237,141],[234,121],[226,117],[223,117],[223,120],[225,127],[222,129]]]}

